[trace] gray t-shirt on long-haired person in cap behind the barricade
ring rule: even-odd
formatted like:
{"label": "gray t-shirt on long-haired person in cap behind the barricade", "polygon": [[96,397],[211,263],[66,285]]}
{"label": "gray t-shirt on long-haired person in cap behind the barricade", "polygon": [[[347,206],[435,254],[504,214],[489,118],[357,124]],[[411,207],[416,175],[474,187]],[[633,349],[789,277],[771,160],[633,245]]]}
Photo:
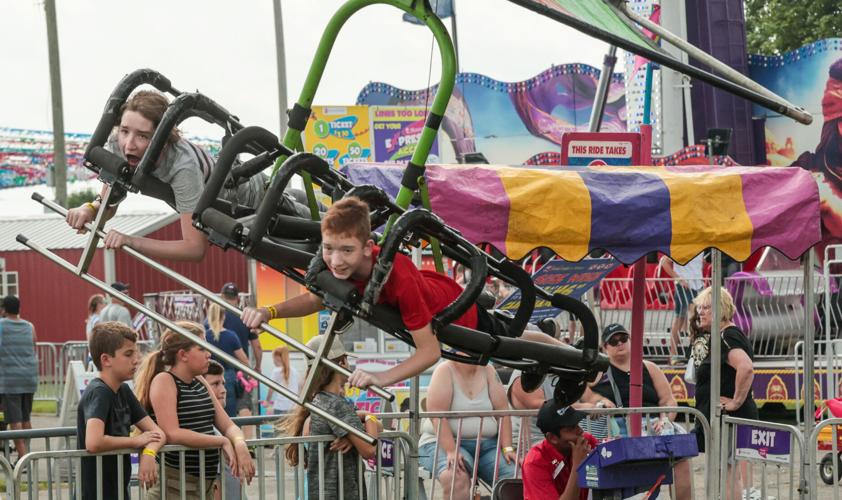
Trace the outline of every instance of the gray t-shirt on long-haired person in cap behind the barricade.
{"label": "gray t-shirt on long-haired person in cap behind the barricade", "polygon": [[[344,397],[329,392],[320,392],[313,398],[313,404],[322,408],[330,415],[364,431],[360,417],[357,416],[357,408],[354,403]],[[313,415],[310,419],[310,435],[322,436],[332,434],[336,437],[344,437],[348,432],[338,425],[328,422],[324,418]],[[324,498],[339,498],[339,453],[331,453],[328,448],[330,443],[324,443],[325,463],[321,466],[324,471]],[[357,463],[360,456],[356,449],[351,449],[342,455],[342,479],[345,500],[362,500],[360,497],[360,484],[357,480]],[[307,445],[307,484],[308,497],[310,500],[319,498],[319,443]],[[363,485],[364,487],[364,485]]]}

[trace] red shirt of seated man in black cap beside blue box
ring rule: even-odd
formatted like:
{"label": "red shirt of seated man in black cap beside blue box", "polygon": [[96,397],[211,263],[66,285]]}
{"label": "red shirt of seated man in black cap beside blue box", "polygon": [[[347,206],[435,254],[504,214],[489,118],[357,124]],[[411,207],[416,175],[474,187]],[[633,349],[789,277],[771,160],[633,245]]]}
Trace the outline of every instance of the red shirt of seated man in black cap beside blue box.
{"label": "red shirt of seated man in black cap beside blue box", "polygon": [[[596,439],[584,434],[585,439],[595,448]],[[536,444],[526,454],[523,461],[523,498],[524,500],[558,500],[564,493],[573,466],[570,457],[562,455],[546,439]],[[589,490],[579,489],[579,498],[586,500]]]}

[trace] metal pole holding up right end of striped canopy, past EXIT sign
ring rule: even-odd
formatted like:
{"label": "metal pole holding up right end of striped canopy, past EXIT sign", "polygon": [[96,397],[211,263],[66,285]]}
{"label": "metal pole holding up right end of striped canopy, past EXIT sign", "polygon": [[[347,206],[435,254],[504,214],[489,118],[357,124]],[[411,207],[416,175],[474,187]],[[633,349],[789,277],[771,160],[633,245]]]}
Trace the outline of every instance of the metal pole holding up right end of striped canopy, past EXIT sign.
{"label": "metal pole holding up right end of striped canopy, past EXIT sign", "polygon": [[[816,396],[813,391],[815,380],[815,337],[816,329],[813,324],[813,311],[816,308],[815,287],[813,284],[813,264],[815,257],[813,249],[807,250],[807,255],[804,258],[804,435],[810,436],[813,433],[813,428],[816,426]],[[825,312],[827,314],[827,312]],[[828,344],[826,348],[830,348]],[[827,370],[831,371],[832,366],[828,365]],[[830,394],[830,387],[828,387],[828,395]],[[805,450],[806,451],[806,450]],[[812,452],[811,452],[812,453]],[[803,473],[802,478],[809,477],[811,473],[810,461],[802,454],[801,461]],[[815,474],[815,472],[812,472]],[[807,485],[802,483],[800,493],[802,498],[808,498],[809,491]]]}

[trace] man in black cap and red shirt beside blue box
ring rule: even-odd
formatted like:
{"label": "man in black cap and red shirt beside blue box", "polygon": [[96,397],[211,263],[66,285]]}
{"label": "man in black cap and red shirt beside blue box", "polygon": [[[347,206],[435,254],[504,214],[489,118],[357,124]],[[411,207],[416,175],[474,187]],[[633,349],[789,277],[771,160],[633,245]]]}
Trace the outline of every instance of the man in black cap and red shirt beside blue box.
{"label": "man in black cap and red shirt beside blue box", "polygon": [[554,399],[538,410],[537,425],[544,440],[533,446],[523,461],[524,500],[588,498],[588,490],[579,488],[576,469],[597,443],[579,427],[583,418],[585,413]]}

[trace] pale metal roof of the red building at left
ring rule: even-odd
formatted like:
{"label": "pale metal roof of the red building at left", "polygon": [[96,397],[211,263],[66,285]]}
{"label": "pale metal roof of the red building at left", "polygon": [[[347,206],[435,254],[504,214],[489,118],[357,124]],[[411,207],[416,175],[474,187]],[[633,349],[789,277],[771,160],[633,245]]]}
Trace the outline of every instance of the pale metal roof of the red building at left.
{"label": "pale metal roof of the red building at left", "polygon": [[[145,236],[177,220],[178,214],[173,212],[117,214],[108,221],[105,229],[116,229],[130,236]],[[18,234],[50,250],[84,248],[88,239],[87,234],[76,234],[59,215],[0,217],[0,252],[27,250],[15,240]]]}

